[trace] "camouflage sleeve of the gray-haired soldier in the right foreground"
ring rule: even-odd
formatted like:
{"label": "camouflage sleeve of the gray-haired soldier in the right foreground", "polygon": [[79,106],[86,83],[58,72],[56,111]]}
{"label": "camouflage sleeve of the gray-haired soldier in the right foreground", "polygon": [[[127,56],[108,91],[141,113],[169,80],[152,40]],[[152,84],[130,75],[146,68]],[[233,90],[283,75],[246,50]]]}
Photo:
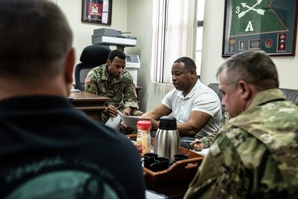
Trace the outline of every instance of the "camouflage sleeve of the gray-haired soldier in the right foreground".
{"label": "camouflage sleeve of the gray-haired soldier in the right foreground", "polygon": [[[244,148],[246,155],[238,153]],[[283,198],[286,186],[281,179],[266,146],[245,131],[226,125],[210,146],[185,198]]]}

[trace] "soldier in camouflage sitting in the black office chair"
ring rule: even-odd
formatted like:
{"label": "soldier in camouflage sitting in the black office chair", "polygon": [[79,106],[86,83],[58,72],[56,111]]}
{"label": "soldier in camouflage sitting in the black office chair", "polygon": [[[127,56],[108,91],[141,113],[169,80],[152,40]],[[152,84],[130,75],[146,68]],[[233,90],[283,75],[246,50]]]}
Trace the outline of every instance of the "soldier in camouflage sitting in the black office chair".
{"label": "soldier in camouflage sitting in the black office chair", "polygon": [[117,110],[124,115],[141,115],[138,111],[136,85],[133,77],[125,70],[126,55],[122,50],[112,50],[106,64],[89,71],[85,79],[85,92],[110,97],[106,110],[101,113],[102,122],[116,117]]}

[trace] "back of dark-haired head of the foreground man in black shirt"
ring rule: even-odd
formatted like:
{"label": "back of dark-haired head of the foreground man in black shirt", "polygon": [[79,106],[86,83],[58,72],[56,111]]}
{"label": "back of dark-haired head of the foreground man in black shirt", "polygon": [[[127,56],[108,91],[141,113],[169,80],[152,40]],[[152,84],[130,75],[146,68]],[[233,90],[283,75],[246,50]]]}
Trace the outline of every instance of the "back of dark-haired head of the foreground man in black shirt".
{"label": "back of dark-haired head of the foreground man in black shirt", "polygon": [[0,78],[56,77],[73,42],[62,11],[46,0],[0,5]]}

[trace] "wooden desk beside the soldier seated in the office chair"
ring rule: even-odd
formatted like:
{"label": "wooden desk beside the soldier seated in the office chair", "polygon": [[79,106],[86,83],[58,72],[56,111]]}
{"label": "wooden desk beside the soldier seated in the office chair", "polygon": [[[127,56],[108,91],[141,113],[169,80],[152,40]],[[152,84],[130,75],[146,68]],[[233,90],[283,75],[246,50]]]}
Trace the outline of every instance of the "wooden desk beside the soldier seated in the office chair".
{"label": "wooden desk beside the soldier seated in the office chair", "polygon": [[110,100],[109,97],[102,97],[85,92],[74,92],[71,93],[69,99],[73,103],[75,108],[84,111],[94,120],[100,121],[100,112],[104,111],[104,102]]}

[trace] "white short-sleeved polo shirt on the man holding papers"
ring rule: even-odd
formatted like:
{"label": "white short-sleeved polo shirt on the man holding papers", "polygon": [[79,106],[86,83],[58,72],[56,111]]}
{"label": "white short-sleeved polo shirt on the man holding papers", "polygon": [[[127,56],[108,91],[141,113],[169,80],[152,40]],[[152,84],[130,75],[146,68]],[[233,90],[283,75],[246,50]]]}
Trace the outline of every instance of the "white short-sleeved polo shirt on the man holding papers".
{"label": "white short-sleeved polo shirt on the man holding papers", "polygon": [[196,138],[210,135],[221,126],[221,101],[211,88],[201,83],[200,79],[187,96],[184,97],[182,91],[174,88],[165,95],[162,104],[171,109],[178,123],[187,122],[192,111],[209,114],[211,116],[209,122],[196,133]]}

